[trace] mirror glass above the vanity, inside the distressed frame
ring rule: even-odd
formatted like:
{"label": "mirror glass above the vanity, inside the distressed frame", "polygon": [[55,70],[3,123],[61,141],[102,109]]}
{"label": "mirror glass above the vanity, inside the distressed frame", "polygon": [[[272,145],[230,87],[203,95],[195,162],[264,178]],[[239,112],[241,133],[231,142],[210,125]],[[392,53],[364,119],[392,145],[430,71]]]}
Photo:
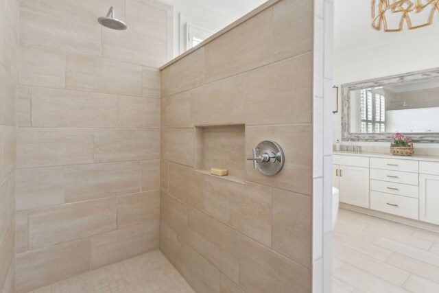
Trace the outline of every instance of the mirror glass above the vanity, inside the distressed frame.
{"label": "mirror glass above the vanity, inside the distressed frame", "polygon": [[439,79],[349,92],[352,133],[439,132]]}

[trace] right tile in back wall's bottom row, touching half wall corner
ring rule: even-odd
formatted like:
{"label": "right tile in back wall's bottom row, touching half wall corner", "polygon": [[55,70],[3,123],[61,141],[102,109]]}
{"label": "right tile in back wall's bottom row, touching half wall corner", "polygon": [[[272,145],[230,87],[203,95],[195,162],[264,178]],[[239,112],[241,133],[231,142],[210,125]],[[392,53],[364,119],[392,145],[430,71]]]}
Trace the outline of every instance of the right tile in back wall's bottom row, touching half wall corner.
{"label": "right tile in back wall's bottom row, touching half wall corner", "polygon": [[91,237],[91,270],[158,248],[158,220]]}

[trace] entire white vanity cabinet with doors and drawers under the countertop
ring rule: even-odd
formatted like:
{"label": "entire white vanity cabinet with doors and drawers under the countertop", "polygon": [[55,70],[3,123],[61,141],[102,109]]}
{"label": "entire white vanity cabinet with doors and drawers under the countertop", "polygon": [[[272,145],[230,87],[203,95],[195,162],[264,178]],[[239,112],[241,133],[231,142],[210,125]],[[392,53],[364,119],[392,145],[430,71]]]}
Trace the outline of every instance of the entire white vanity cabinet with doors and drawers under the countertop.
{"label": "entire white vanity cabinet with doors and drawers under the countertop", "polygon": [[438,157],[339,153],[333,163],[340,202],[439,224]]}

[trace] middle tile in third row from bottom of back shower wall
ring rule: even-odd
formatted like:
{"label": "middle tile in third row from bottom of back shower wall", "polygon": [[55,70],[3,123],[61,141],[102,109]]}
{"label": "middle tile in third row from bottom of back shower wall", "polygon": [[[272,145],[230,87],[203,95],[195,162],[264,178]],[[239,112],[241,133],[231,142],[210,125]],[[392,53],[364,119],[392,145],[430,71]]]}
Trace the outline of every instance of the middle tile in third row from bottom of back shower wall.
{"label": "middle tile in third row from bottom of back shower wall", "polygon": [[139,162],[75,165],[64,168],[66,202],[80,202],[140,192]]}

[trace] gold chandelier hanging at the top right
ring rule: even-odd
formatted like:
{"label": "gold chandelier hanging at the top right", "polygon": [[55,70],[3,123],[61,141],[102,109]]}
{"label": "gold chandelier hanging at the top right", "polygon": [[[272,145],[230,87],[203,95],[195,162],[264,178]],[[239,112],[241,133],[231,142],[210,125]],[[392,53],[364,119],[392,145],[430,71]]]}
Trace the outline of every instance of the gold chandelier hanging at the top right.
{"label": "gold chandelier hanging at the top right", "polygon": [[372,0],[372,27],[384,32],[401,32],[433,24],[439,15],[439,0]]}

